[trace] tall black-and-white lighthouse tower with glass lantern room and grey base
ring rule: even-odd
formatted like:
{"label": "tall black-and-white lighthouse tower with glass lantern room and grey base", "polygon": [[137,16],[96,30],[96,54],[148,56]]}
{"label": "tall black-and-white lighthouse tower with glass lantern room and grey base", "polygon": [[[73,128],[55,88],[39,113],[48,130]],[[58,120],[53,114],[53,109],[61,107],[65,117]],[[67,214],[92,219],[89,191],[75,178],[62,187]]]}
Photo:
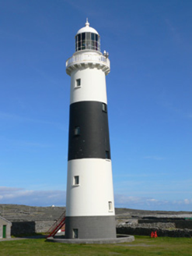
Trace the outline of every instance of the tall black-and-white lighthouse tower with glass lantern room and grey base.
{"label": "tall black-and-white lighthouse tower with glass lantern room and grey base", "polygon": [[71,97],[65,237],[116,238],[106,101],[110,60],[88,20],[75,35],[66,72]]}

